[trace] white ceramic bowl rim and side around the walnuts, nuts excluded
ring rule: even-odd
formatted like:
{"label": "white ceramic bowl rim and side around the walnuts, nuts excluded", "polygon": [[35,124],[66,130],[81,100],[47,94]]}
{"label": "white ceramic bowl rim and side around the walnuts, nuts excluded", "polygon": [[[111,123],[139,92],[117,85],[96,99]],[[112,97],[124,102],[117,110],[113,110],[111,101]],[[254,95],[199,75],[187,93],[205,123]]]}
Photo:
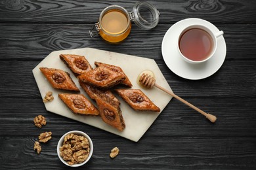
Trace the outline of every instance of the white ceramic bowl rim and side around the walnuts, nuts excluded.
{"label": "white ceramic bowl rim and side around the walnuts, nuts excluded", "polygon": [[[63,158],[60,156],[60,146],[62,146],[63,141],[64,141],[64,137],[70,133],[74,133],[75,135],[80,135],[80,136],[84,136],[88,139],[89,144],[90,144],[90,152],[89,152],[89,156],[87,158],[87,160],[83,161],[82,163],[76,163],[74,165],[69,165],[68,162],[66,162],[65,160],[63,160]],[[60,158],[60,160],[65,164],[68,165],[70,167],[79,167],[81,165],[84,165],[85,163],[87,163],[87,161],[90,160],[91,156],[93,155],[93,141],[91,140],[91,138],[84,133],[83,131],[69,131],[67,133],[65,133],[60,140],[58,141],[58,145],[57,145],[57,153],[58,153],[58,158]]]}

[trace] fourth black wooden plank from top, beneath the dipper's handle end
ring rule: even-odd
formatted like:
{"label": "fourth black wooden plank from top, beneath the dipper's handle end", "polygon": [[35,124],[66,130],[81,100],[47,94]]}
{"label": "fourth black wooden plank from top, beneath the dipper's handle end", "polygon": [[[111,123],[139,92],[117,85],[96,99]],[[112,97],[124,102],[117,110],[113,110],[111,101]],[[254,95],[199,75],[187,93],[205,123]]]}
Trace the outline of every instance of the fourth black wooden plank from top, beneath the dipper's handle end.
{"label": "fourth black wooden plank from top, beneath the dipper's handle end", "polygon": [[[188,101],[217,116],[217,122],[212,124],[202,114],[172,99],[144,137],[255,137],[256,99],[205,98]],[[47,112],[41,99],[2,98],[0,103],[1,135],[37,136],[43,131],[54,131],[54,135],[60,136],[65,131],[84,129],[89,133],[94,132],[97,137],[120,138],[96,127]],[[47,126],[41,129],[33,124],[33,118],[39,114],[47,118]]]}

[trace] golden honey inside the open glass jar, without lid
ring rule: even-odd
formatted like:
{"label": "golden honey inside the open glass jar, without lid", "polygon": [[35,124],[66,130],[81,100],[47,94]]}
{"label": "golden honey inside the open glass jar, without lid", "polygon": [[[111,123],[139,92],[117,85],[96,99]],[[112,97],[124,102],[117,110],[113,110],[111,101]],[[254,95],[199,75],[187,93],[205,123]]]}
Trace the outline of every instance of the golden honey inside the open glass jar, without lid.
{"label": "golden honey inside the open glass jar, without lid", "polygon": [[100,21],[100,36],[108,42],[121,42],[131,31],[129,18],[121,11],[112,9]]}

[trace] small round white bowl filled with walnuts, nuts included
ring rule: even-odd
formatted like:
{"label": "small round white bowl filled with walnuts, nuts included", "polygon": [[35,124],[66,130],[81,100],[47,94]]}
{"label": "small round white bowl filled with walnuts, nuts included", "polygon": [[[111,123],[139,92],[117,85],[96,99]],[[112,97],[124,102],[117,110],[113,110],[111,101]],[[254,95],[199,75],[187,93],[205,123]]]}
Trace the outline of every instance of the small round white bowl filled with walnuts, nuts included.
{"label": "small round white bowl filled with walnuts, nuts included", "polygon": [[65,165],[79,167],[93,155],[93,141],[83,131],[69,131],[58,141],[57,153]]}

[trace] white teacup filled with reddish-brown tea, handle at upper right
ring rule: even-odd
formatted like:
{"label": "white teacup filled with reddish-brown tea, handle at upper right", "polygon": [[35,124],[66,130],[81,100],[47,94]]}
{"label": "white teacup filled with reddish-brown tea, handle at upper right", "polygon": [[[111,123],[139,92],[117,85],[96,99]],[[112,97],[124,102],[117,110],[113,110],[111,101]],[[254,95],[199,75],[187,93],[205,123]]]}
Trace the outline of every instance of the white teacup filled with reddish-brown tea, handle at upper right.
{"label": "white teacup filled with reddish-brown tea, handle at upper right", "polygon": [[215,54],[218,41],[223,31],[214,33],[205,25],[192,24],[185,27],[177,42],[182,59],[189,63],[202,63]]}

